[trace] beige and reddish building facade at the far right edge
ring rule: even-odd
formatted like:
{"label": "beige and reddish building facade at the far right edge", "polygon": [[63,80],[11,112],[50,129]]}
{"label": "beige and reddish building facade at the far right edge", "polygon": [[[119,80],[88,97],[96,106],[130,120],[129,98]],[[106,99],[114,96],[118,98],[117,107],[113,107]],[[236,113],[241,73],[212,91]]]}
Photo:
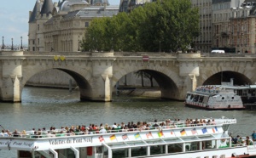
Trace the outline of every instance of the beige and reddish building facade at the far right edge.
{"label": "beige and reddish building facade at the far right edge", "polygon": [[256,0],[245,0],[231,11],[230,45],[236,48],[236,52],[255,54]]}

